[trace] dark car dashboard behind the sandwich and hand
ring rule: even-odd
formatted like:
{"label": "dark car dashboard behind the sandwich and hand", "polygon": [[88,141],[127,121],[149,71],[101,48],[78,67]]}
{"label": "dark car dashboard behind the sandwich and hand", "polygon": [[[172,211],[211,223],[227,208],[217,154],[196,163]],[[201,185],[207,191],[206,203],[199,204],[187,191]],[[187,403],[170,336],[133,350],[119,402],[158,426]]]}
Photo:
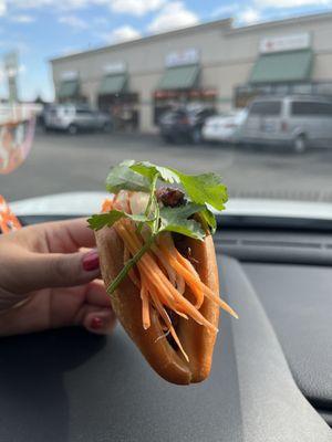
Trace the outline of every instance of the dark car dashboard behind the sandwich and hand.
{"label": "dark car dashboard behind the sandwich and hand", "polygon": [[220,224],[220,293],[239,320],[221,313],[209,379],[167,383],[120,326],[2,338],[0,440],[332,441],[331,231]]}

